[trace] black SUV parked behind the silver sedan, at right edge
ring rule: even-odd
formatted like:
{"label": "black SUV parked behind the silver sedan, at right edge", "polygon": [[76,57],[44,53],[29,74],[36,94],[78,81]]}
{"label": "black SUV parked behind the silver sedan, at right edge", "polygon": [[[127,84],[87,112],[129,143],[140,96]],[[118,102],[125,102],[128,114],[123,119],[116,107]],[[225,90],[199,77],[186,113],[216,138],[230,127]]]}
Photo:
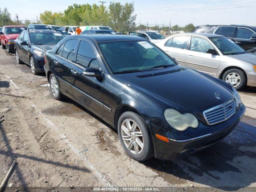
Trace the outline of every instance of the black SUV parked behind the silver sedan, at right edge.
{"label": "black SUV parked behind the silver sedan, at right edge", "polygon": [[245,25],[205,25],[197,26],[196,33],[213,33],[233,40],[245,50],[256,48],[256,27]]}

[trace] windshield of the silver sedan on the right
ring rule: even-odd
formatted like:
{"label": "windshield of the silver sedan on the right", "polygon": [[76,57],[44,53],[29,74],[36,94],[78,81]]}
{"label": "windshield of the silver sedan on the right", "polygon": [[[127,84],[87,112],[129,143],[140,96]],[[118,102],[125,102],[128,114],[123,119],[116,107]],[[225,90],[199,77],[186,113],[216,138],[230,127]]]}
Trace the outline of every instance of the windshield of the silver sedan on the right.
{"label": "windshield of the silver sedan on the right", "polygon": [[226,37],[210,37],[209,39],[224,55],[246,53],[243,48],[241,48],[240,46],[235,44],[234,41]]}

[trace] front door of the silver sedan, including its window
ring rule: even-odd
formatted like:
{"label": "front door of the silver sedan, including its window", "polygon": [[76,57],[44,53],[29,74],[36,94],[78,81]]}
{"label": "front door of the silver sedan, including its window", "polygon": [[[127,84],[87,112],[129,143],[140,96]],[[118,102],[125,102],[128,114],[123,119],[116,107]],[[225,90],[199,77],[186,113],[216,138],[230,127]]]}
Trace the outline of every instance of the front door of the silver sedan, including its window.
{"label": "front door of the silver sedan, including its window", "polygon": [[208,39],[192,36],[190,48],[187,51],[186,66],[216,76],[220,65],[220,56],[207,53],[208,49],[214,49]]}

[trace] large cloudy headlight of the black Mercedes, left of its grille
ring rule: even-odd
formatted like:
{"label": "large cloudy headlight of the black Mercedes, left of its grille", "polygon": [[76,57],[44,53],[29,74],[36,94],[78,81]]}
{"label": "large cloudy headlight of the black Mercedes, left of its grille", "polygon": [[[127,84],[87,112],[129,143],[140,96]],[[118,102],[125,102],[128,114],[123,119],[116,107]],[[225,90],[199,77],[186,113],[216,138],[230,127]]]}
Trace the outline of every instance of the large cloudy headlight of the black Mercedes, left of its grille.
{"label": "large cloudy headlight of the black Mercedes, left of its grille", "polygon": [[198,120],[191,113],[181,114],[174,109],[166,109],[164,111],[164,118],[170,126],[178,131],[184,131],[188,127],[198,127]]}

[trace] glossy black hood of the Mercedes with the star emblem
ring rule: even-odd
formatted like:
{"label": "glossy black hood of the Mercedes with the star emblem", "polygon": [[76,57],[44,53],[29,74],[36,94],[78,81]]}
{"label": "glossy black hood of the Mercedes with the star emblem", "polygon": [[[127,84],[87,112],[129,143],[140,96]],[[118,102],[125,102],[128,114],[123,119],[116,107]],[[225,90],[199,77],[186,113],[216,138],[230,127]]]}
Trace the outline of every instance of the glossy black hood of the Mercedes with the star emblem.
{"label": "glossy black hood of the Mercedes with the star emblem", "polygon": [[[165,74],[156,75],[161,72]],[[203,118],[204,110],[234,98],[231,86],[223,86],[218,80],[181,66],[115,76],[164,106],[174,107],[181,113],[193,113],[198,118]],[[220,93],[220,100],[215,98],[216,92]]]}

